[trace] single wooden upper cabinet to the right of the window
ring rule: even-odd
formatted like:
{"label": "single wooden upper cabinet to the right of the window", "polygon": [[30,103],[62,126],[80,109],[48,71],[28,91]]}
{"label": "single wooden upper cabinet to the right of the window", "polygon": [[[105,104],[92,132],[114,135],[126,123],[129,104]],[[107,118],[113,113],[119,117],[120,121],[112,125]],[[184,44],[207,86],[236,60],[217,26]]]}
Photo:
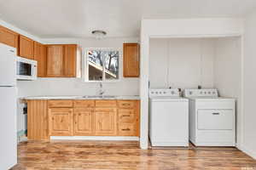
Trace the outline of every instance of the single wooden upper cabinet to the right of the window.
{"label": "single wooden upper cabinet to the right of the window", "polygon": [[124,43],[124,77],[139,77],[139,45]]}

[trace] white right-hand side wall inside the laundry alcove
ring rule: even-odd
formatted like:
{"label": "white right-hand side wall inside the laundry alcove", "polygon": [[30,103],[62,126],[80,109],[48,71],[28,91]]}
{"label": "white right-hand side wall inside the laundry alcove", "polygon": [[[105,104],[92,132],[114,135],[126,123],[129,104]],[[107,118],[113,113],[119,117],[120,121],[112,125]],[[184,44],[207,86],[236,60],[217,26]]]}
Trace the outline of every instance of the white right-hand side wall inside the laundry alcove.
{"label": "white right-hand side wall inside the laundry alcove", "polygon": [[241,37],[216,40],[214,57],[214,87],[221,96],[236,99],[236,143],[241,145]]}

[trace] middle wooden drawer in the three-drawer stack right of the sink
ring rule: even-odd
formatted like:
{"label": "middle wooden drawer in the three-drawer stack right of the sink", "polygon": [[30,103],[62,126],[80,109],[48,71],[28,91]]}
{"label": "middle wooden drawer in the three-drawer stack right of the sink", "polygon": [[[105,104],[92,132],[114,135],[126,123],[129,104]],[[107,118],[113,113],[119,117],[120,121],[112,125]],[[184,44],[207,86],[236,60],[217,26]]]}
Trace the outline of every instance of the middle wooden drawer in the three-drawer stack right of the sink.
{"label": "middle wooden drawer in the three-drawer stack right of the sink", "polygon": [[119,122],[136,122],[136,111],[128,109],[119,109]]}

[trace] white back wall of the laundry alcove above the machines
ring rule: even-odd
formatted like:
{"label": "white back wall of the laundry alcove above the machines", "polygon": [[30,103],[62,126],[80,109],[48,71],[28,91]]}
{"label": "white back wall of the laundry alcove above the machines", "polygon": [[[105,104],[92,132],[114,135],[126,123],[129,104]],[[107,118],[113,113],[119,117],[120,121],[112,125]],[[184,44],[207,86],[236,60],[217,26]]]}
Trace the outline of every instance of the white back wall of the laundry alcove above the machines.
{"label": "white back wall of the laundry alcove above the machines", "polygon": [[151,88],[213,87],[215,39],[151,38],[149,45]]}

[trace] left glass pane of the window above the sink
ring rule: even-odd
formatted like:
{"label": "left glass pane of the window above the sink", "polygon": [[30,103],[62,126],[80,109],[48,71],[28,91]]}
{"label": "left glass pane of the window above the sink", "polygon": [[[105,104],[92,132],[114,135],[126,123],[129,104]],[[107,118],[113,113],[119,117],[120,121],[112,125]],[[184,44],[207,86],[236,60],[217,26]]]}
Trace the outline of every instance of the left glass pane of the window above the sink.
{"label": "left glass pane of the window above the sink", "polygon": [[88,79],[90,81],[102,81],[103,55],[101,50],[88,51]]}

